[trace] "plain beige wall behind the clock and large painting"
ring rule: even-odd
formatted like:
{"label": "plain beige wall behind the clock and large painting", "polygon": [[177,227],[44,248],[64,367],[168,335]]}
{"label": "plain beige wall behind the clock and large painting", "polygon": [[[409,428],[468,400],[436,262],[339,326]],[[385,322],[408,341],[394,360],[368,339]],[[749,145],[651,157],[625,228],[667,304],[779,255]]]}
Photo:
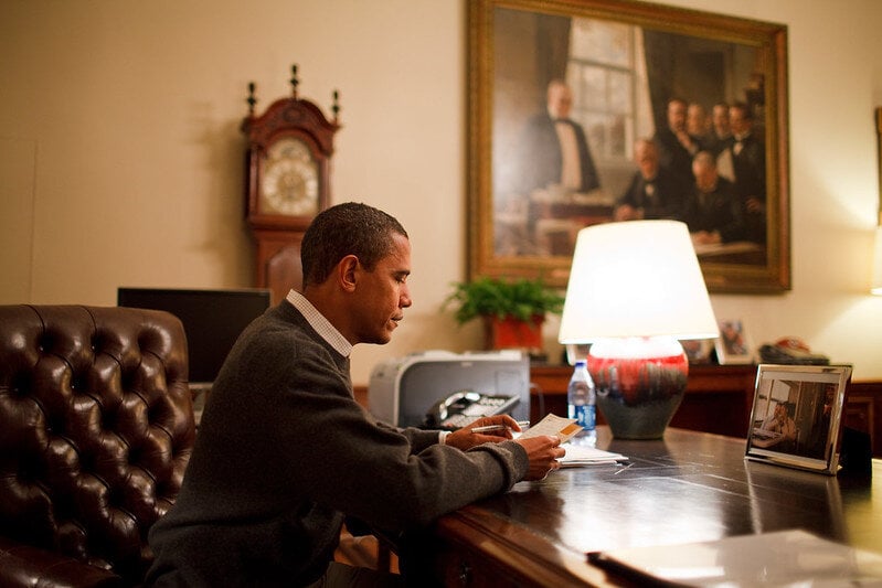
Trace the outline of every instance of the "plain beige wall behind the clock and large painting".
{"label": "plain beige wall behind the clock and large painting", "polygon": [[[875,0],[674,0],[789,28],[793,290],[714,296],[756,343],[800,336],[882,378],[868,292],[882,105]],[[113,304],[127,286],[249,286],[242,213],[245,88],[326,110],[341,93],[334,201],[395,214],[415,306],[379,361],[479,345],[439,312],[465,276],[465,3],[96,0],[0,3],[0,303]],[[548,348],[556,323],[546,327]]]}

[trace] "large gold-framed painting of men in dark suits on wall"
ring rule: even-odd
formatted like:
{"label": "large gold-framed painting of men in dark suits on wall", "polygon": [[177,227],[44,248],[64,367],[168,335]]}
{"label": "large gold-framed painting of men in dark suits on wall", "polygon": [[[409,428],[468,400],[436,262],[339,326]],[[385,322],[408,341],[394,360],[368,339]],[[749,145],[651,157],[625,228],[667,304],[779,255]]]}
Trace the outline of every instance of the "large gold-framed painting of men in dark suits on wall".
{"label": "large gold-framed painting of men in dark suits on wall", "polygon": [[787,28],[621,0],[471,0],[469,275],[565,287],[577,232],[689,225],[712,292],[790,288]]}

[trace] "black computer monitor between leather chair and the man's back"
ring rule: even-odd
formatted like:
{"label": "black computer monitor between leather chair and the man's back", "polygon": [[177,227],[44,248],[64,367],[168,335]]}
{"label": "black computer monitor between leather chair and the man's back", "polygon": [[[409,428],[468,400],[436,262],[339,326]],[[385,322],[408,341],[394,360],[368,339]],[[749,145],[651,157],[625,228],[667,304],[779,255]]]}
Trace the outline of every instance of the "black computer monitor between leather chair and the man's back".
{"label": "black computer monitor between leather chair and the man's back", "polygon": [[166,310],[178,317],[187,333],[190,382],[210,384],[240,333],[269,308],[269,290],[118,288],[117,304]]}

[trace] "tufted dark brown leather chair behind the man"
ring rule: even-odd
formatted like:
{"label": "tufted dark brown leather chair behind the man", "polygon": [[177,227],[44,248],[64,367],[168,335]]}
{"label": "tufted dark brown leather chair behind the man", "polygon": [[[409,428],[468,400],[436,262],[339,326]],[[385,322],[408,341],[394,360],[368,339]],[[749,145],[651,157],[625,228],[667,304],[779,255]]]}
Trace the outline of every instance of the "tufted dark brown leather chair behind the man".
{"label": "tufted dark brown leather chair behind the man", "polygon": [[195,427],[172,314],[0,306],[0,586],[131,586]]}

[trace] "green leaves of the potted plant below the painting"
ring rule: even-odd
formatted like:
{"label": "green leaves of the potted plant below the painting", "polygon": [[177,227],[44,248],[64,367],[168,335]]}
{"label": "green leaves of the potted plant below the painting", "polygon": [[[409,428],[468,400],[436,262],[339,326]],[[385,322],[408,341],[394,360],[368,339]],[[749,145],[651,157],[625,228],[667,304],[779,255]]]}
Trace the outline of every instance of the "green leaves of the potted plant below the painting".
{"label": "green leaves of the potted plant below the painting", "polygon": [[454,317],[459,324],[485,316],[529,321],[535,314],[560,314],[563,310],[563,297],[546,288],[541,278],[504,280],[482,277],[453,286],[454,291],[445,299],[444,308],[457,307]]}

